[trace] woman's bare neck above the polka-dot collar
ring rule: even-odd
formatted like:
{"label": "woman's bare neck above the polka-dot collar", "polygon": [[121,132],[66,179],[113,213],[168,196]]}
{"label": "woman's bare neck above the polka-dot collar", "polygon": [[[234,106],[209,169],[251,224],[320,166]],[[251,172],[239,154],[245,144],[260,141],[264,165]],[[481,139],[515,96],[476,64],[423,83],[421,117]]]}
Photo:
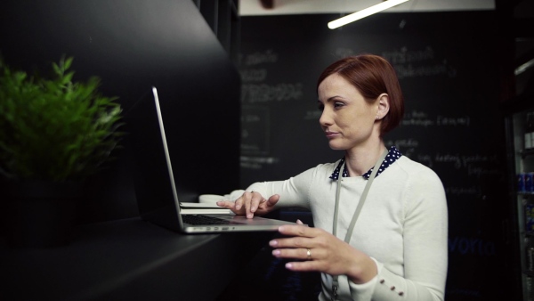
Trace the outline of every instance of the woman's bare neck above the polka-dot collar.
{"label": "woman's bare neck above the polka-dot collar", "polygon": [[380,155],[384,150],[386,148],[382,140],[374,143],[374,145],[346,150],[345,165],[348,168],[349,175],[360,176],[367,173],[369,169],[375,166],[376,160],[380,159]]}

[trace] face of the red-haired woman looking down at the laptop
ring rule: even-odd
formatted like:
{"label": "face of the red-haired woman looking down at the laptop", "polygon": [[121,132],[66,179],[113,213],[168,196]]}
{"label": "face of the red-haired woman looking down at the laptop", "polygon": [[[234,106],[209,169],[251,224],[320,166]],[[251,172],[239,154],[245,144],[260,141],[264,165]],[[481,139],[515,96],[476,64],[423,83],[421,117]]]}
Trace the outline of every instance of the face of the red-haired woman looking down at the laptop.
{"label": "face of the red-haired woman looking down at the laptop", "polygon": [[[344,77],[332,74],[319,85],[319,123],[333,150],[364,147],[374,130],[379,102],[369,103]],[[376,131],[379,131],[376,126]]]}

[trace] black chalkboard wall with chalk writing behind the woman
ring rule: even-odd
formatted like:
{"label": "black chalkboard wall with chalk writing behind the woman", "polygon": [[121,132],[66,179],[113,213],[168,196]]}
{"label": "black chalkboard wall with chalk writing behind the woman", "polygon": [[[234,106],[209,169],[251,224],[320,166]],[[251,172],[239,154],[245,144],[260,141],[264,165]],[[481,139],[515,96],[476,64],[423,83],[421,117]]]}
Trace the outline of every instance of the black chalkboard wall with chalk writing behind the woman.
{"label": "black chalkboard wall with chalk writing behind the woman", "polygon": [[447,299],[508,299],[515,274],[502,231],[509,211],[493,12],[382,13],[328,29],[337,17],[241,19],[241,186],[340,159],[320,130],[317,77],[344,56],[382,55],[406,100],[401,126],[384,141],[433,168],[447,192]]}

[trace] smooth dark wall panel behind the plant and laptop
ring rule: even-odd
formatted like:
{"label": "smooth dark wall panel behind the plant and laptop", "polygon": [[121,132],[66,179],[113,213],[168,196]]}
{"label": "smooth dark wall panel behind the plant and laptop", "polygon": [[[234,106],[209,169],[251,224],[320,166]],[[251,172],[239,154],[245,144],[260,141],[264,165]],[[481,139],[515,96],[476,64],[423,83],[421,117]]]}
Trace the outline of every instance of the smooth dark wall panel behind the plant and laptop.
{"label": "smooth dark wall panel behind the plant and laptop", "polygon": [[[182,200],[238,187],[239,73],[192,1],[4,1],[0,53],[30,73],[73,56],[125,110],[155,85]],[[125,153],[88,180],[80,222],[137,215]]]}

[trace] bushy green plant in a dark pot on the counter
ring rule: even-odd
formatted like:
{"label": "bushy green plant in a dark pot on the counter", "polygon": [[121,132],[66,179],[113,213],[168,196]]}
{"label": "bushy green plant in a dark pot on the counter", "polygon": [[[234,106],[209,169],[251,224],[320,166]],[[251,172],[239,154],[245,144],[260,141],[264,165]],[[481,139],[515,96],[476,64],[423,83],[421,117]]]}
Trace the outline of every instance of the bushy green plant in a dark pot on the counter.
{"label": "bushy green plant in a dark pot on the counter", "polygon": [[99,77],[74,82],[72,61],[53,62],[47,78],[0,60],[0,199],[15,245],[65,243],[84,180],[119,146],[117,97],[98,92]]}

